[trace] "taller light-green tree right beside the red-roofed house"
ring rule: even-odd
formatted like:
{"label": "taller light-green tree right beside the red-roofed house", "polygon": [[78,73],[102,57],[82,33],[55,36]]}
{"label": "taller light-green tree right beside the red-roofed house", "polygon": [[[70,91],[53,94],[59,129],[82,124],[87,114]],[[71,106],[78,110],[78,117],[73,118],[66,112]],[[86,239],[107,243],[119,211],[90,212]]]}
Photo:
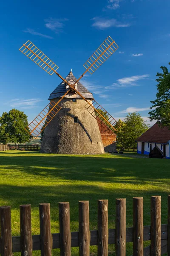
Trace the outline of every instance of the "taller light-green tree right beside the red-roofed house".
{"label": "taller light-green tree right beside the red-roofed house", "polygon": [[133,151],[135,151],[136,139],[147,131],[149,127],[146,124],[146,121],[144,121],[142,116],[137,112],[128,113],[123,121],[125,122],[123,132],[126,137],[126,147],[128,149],[133,148]]}

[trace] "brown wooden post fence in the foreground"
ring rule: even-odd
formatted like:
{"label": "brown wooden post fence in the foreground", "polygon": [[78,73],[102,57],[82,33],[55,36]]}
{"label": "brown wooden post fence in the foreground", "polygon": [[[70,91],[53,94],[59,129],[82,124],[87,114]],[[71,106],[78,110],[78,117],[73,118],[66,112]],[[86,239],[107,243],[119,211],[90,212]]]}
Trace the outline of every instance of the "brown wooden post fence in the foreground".
{"label": "brown wooden post fence in the foreground", "polygon": [[[143,227],[143,198],[133,198],[133,227],[126,228],[126,199],[116,199],[116,228],[108,230],[108,200],[98,200],[98,230],[89,230],[89,202],[79,201],[79,232],[70,231],[70,207],[59,203],[59,233],[51,235],[50,204],[39,204],[40,235],[31,236],[31,205],[20,205],[20,236],[11,236],[11,207],[0,207],[0,252],[11,256],[51,256],[60,248],[61,256],[71,256],[71,247],[79,247],[80,256],[90,255],[90,245],[97,245],[98,256],[108,255],[108,244],[115,244],[116,256],[125,256],[126,243],[133,242],[134,256],[170,255],[170,195],[168,224],[161,225],[161,197],[151,196],[151,224]],[[143,248],[143,241],[150,246]]]}

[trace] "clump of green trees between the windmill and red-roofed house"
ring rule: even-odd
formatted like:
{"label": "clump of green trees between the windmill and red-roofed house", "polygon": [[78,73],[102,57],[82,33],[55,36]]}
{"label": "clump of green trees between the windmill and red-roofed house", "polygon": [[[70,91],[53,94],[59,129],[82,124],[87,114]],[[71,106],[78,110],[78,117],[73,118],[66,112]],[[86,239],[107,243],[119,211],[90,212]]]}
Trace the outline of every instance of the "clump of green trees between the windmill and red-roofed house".
{"label": "clump of green trees between the windmill and red-roofed house", "polygon": [[136,147],[136,139],[147,131],[148,125],[139,113],[128,113],[125,119],[116,124],[117,145],[123,148]]}

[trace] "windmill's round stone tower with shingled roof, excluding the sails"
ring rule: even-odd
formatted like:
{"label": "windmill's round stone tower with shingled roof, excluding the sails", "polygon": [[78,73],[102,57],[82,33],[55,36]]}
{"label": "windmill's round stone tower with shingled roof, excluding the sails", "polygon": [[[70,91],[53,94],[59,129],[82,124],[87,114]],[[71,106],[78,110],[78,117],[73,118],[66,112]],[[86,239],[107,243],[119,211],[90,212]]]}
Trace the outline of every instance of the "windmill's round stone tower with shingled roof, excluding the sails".
{"label": "windmill's round stone tower with shingled roof, excluding the sails", "polygon": [[[65,78],[74,82],[77,79],[72,72]],[[93,99],[93,95],[80,83],[77,90],[86,99]],[[49,99],[58,102],[66,92],[62,82],[51,93]],[[96,119],[87,111],[85,100],[75,93],[69,93],[60,103],[62,108],[54,119],[44,129],[41,153],[56,154],[102,154],[104,153],[99,125]]]}

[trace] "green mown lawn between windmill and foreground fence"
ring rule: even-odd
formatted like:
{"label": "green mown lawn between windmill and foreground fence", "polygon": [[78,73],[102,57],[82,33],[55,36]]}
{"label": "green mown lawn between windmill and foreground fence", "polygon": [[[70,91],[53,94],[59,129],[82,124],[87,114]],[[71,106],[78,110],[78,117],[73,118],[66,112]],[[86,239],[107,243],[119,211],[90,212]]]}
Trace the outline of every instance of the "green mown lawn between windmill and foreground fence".
{"label": "green mown lawn between windmill and foreground fence", "polygon": [[[150,225],[150,195],[161,195],[161,221],[167,223],[170,160],[124,155],[56,155],[0,152],[0,205],[11,205],[12,235],[20,235],[19,205],[31,204],[32,234],[39,234],[39,203],[51,204],[51,232],[59,232],[58,202],[69,201],[71,231],[78,231],[78,201],[90,201],[90,229],[97,228],[97,199],[109,200],[109,228],[115,227],[115,198],[126,198],[127,227],[132,198],[144,198],[144,225]],[[92,247],[92,253],[96,248]],[[114,247],[109,246],[113,252]],[[54,250],[53,255],[58,255]],[[78,255],[78,249],[72,249]],[[127,255],[132,247],[127,245]],[[19,253],[18,253],[19,255]],[[34,252],[34,255],[40,255]]]}

